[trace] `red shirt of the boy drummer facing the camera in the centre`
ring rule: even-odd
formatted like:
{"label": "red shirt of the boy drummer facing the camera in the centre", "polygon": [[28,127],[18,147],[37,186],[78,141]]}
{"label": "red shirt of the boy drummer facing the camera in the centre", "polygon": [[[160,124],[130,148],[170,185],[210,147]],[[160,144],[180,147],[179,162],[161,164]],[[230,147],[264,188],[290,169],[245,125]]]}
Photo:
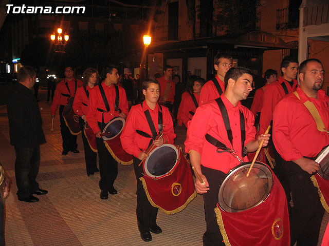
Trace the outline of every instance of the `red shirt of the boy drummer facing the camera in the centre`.
{"label": "red shirt of the boy drummer facing the camera in the centre", "polygon": [[[136,130],[143,131],[152,136],[151,129],[148,124],[148,120],[145,117],[144,111],[149,110],[155,130],[159,132],[158,128],[158,111],[159,105],[151,110],[145,100],[142,103],[143,108],[140,104],[135,105],[131,108],[127,120],[125,121],[124,128],[121,132],[120,140],[122,148],[129,154],[138,157],[140,151],[147,150],[151,138],[143,137],[139,135]],[[169,110],[166,107],[162,108],[162,124],[163,127],[163,140],[167,140],[168,144],[174,143],[176,134],[174,133],[173,120],[170,116]]]}

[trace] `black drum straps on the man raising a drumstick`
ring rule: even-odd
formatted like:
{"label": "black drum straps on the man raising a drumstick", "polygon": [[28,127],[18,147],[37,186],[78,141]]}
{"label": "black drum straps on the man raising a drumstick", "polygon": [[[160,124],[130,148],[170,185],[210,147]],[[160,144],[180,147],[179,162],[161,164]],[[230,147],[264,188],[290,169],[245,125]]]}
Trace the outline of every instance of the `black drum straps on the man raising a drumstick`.
{"label": "black drum straps on the man raising a drumstick", "polygon": [[[223,100],[221,97],[218,97],[215,99],[216,103],[218,104],[218,107],[221,110],[222,117],[224,120],[224,125],[226,128],[227,132],[227,137],[229,141],[231,142],[231,146],[233,147],[233,136],[232,136],[232,130],[231,130],[231,125],[230,125],[230,120],[227,114],[227,110],[225,108],[225,105],[223,103]],[[247,155],[247,151],[245,149],[245,140],[246,140],[246,126],[245,126],[245,118],[244,115],[241,111],[240,112],[240,128],[241,128],[241,146],[242,146],[242,157],[245,157]],[[206,134],[206,140],[210,142],[213,146],[217,147],[217,152],[218,153],[223,153],[223,152],[229,152],[231,154],[235,153],[234,150],[228,148],[223,142],[217,140],[216,138],[210,136],[208,133]],[[235,156],[235,155],[234,155]],[[240,160],[241,161],[241,160]]]}

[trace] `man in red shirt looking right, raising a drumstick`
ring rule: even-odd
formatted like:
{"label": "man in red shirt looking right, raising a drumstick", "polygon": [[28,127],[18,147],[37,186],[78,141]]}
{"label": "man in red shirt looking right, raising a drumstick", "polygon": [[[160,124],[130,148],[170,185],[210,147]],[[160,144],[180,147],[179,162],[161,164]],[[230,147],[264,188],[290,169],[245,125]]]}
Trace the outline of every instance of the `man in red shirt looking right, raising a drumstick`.
{"label": "man in red shirt looking right, raising a drumstick", "polygon": [[204,198],[207,229],[203,242],[204,245],[212,246],[224,245],[214,212],[218,189],[226,174],[240,164],[229,152],[217,152],[217,142],[234,150],[237,156],[247,161],[245,152],[255,151],[262,139],[265,140],[265,147],[269,139],[269,134],[261,134],[255,140],[254,117],[240,103],[252,90],[251,71],[242,67],[231,68],[224,82],[225,92],[220,98],[197,108],[188,124],[185,141],[185,151],[190,154],[191,164],[205,182],[203,185],[195,179],[194,185],[197,193],[203,194]]}

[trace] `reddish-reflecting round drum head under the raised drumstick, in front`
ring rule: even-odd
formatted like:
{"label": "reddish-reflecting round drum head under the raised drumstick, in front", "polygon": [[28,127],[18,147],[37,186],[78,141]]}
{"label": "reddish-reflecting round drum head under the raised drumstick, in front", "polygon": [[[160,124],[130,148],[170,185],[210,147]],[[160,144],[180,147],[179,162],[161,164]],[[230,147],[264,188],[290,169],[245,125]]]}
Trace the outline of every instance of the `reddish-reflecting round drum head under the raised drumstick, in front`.
{"label": "reddish-reflecting round drum head under the raised drumstick, in front", "polygon": [[249,177],[250,162],[232,169],[225,177],[218,193],[218,204],[226,212],[241,212],[258,206],[271,192],[273,176],[270,169],[256,161]]}

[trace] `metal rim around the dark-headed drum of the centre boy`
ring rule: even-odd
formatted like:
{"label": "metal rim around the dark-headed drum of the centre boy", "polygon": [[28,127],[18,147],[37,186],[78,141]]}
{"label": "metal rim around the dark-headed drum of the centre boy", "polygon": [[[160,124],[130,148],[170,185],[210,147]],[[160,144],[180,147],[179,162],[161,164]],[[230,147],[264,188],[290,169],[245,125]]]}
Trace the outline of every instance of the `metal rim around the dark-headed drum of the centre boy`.
{"label": "metal rim around the dark-headed drum of the centre boy", "polygon": [[[152,154],[154,154],[155,152],[159,151],[160,149],[164,149],[164,148],[171,148],[172,150],[174,150],[174,152],[176,153],[176,161],[175,161],[175,164],[170,168],[170,170],[168,172],[165,172],[165,173],[162,173],[161,175],[154,175],[152,174],[149,169],[147,168],[148,167],[148,163],[150,161],[150,159],[152,158]],[[179,153],[179,150],[178,150],[178,147],[175,146],[175,145],[171,145],[171,144],[163,144],[161,146],[158,146],[156,147],[155,149],[153,149],[149,156],[145,159],[145,161],[143,162],[143,171],[144,171],[144,174],[149,176],[150,178],[154,178],[154,179],[159,179],[159,178],[163,178],[163,177],[166,177],[168,175],[170,175],[172,172],[174,172],[174,170],[176,169],[179,161],[180,161],[180,153]]]}

